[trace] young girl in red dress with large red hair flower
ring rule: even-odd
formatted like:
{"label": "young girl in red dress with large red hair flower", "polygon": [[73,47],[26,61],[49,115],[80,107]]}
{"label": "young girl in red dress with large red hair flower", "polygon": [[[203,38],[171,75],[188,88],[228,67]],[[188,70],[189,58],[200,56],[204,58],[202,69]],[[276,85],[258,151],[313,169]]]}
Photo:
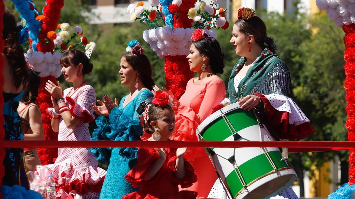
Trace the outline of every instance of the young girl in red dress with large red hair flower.
{"label": "young girl in red dress with large red hair flower", "polygon": [[[156,92],[137,109],[143,112],[144,133],[151,134],[146,141],[168,141],[175,129],[175,116],[166,92]],[[183,156],[187,148],[139,148],[138,164],[125,176],[140,191],[123,196],[123,199],[178,199],[196,198],[197,192],[180,191],[197,181],[192,165]]]}

